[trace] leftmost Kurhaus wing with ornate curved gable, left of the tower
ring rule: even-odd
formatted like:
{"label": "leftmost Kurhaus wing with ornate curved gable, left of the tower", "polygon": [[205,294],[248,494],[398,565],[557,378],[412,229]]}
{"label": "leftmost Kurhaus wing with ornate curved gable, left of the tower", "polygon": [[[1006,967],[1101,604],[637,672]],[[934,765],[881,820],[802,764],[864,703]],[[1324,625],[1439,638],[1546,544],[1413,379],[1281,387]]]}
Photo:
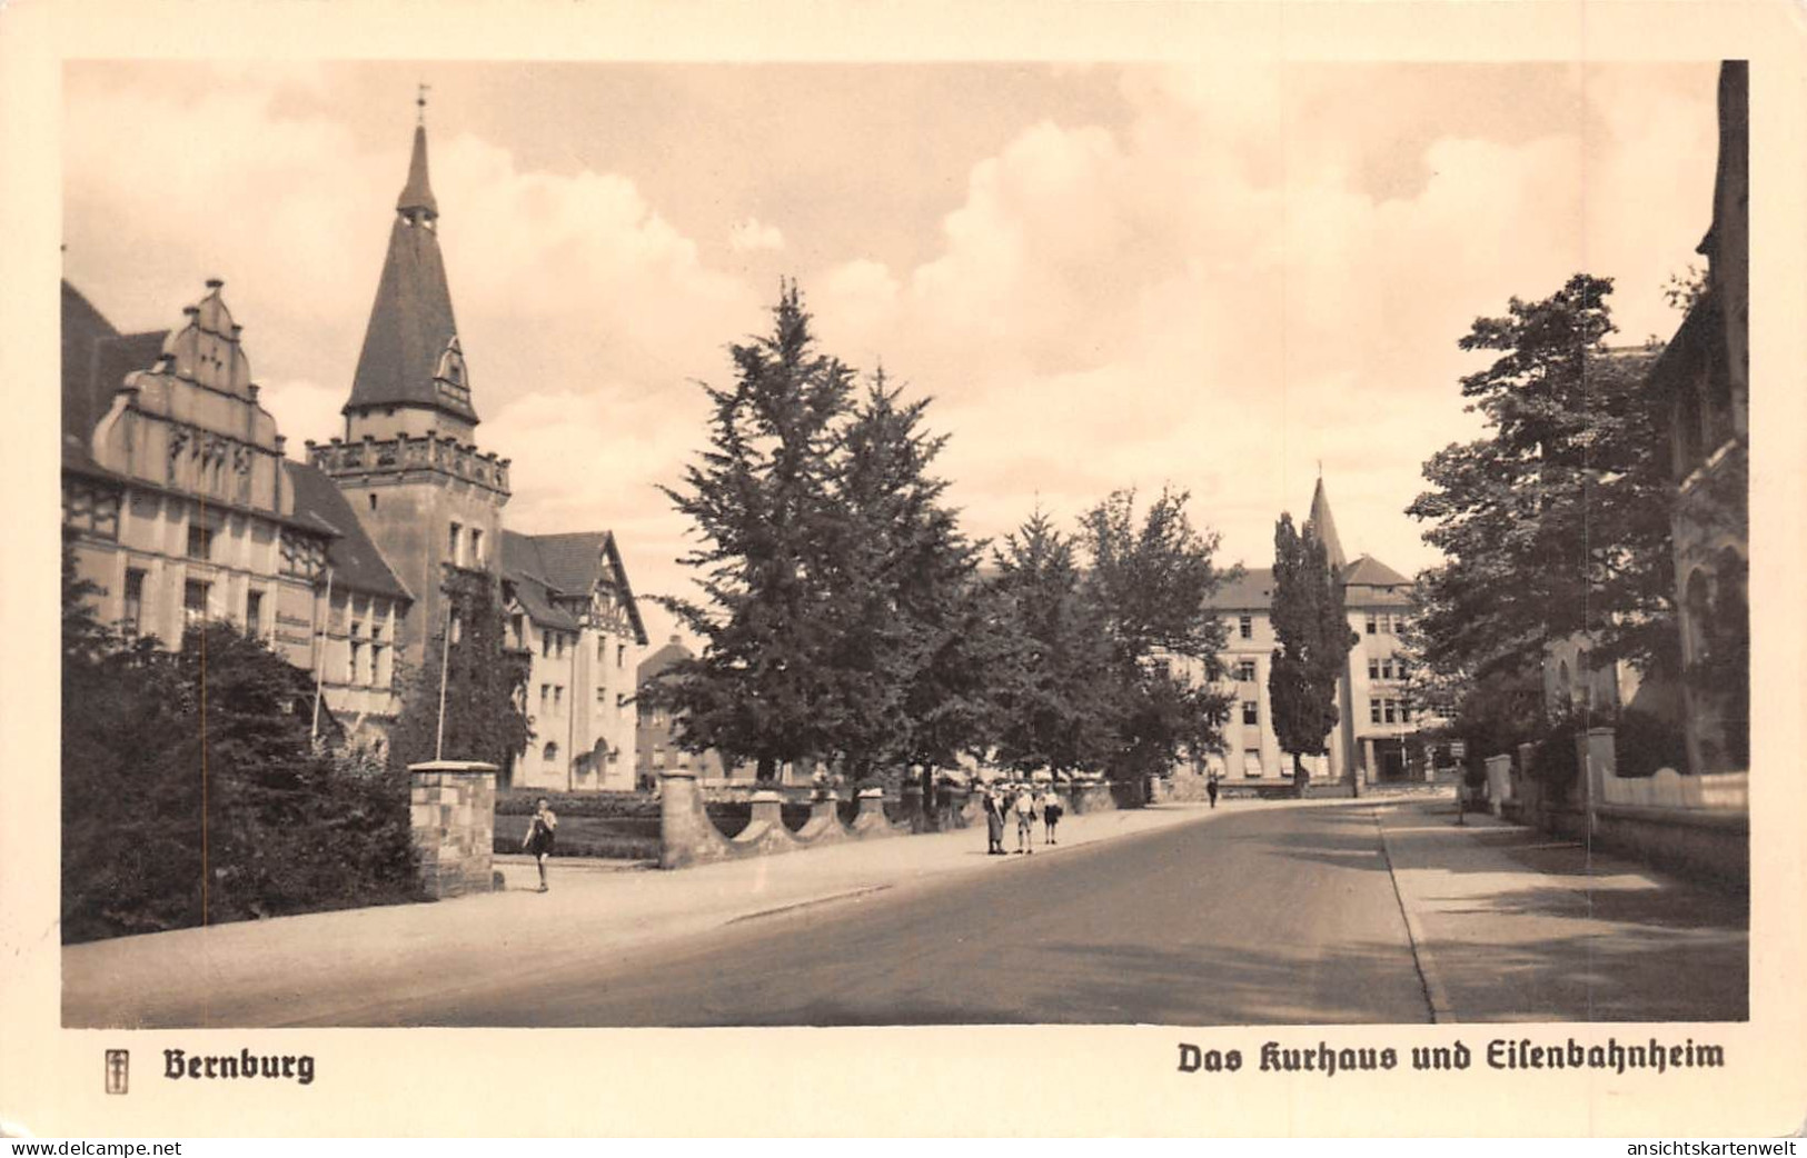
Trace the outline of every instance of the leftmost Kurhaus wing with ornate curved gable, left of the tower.
{"label": "leftmost Kurhaus wing with ornate curved gable, left of the tower", "polygon": [[121,336],[63,284],[63,528],[99,612],[181,647],[228,620],[320,676],[354,737],[392,714],[412,596],[345,497],[284,457],[220,282]]}

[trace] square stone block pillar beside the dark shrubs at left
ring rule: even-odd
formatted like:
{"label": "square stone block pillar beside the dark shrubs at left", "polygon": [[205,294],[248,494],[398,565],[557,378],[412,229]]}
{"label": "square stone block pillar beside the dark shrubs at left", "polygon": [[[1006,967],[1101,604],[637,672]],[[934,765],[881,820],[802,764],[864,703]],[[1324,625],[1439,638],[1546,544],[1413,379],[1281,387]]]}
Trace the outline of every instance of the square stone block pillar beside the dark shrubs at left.
{"label": "square stone block pillar beside the dark shrubs at left", "polygon": [[408,826],[426,896],[495,887],[495,764],[410,764]]}

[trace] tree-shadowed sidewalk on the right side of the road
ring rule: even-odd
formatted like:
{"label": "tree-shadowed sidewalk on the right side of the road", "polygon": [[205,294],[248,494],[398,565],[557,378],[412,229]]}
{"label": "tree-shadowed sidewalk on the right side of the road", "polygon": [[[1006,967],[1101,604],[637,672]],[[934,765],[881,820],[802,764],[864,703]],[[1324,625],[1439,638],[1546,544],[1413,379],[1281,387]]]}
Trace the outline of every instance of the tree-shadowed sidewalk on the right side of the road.
{"label": "tree-shadowed sidewalk on the right side of the road", "polygon": [[1749,909],[1455,804],[1375,809],[1437,1021],[1744,1021]]}

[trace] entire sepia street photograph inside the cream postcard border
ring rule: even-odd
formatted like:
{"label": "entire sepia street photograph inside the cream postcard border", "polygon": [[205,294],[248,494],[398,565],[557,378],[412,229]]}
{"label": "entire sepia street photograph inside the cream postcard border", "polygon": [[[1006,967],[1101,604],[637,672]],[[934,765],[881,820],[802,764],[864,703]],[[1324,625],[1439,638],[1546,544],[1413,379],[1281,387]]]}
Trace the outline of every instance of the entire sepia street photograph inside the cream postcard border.
{"label": "entire sepia street photograph inside the cream postcard border", "polygon": [[1742,61],[65,92],[69,1024],[1746,1017]]}

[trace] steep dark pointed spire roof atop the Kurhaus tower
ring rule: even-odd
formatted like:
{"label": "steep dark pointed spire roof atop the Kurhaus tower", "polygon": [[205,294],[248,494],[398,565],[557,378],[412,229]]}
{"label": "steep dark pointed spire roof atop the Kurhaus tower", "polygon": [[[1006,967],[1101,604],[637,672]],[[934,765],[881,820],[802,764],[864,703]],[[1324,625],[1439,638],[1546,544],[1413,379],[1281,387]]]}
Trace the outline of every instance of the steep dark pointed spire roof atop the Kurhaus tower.
{"label": "steep dark pointed spire roof atop the Kurhaus tower", "polygon": [[439,360],[457,338],[457,320],[452,316],[439,233],[430,224],[437,210],[430,202],[426,130],[416,128],[408,184],[398,204],[403,211],[398,211],[389,229],[389,255],[376,284],[376,302],[370,304],[370,323],[363,331],[363,350],[358,354],[345,412],[407,405],[477,421],[468,401],[443,396],[434,385]]}

